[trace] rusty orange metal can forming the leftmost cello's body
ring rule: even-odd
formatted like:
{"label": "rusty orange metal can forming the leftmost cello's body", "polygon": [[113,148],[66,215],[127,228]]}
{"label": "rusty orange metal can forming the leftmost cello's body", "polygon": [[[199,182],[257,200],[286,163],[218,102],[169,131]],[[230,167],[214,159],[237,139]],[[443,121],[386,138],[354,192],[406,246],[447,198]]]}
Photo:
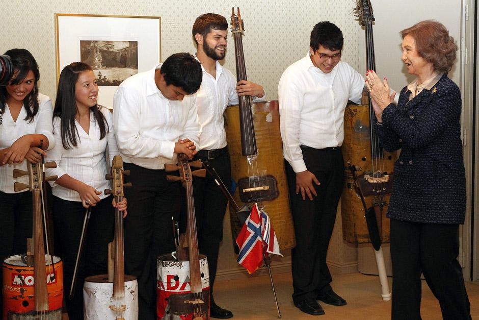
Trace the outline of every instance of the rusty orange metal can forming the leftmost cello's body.
{"label": "rusty orange metal can forming the leftmost cello's body", "polygon": [[[48,309],[45,319],[62,318],[63,262],[45,255]],[[53,267],[52,267],[53,266]],[[11,256],[3,262],[3,319],[33,319],[35,311],[35,278],[33,266],[27,266],[21,255]],[[54,272],[55,269],[55,272]],[[33,316],[33,317],[32,317]]]}

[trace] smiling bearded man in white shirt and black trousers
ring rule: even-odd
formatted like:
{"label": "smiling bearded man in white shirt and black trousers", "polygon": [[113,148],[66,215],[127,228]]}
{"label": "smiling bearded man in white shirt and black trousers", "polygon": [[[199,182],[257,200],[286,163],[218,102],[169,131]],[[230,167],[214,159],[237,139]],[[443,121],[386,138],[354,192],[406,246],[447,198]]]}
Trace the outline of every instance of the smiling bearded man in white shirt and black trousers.
{"label": "smiling bearded man in white shirt and black trousers", "polygon": [[[196,93],[198,118],[203,131],[200,135],[200,151],[194,159],[207,160],[229,189],[231,164],[223,112],[228,105],[238,104],[238,95],[251,95],[253,100],[259,100],[264,97],[264,90],[250,81],[236,83],[231,71],[218,62],[226,54],[227,29],[225,17],[214,13],[199,16],[193,24],[193,37],[198,46],[196,58],[203,71],[203,80]],[[205,179],[194,178],[193,188],[199,251],[208,257],[210,316],[231,318],[231,311],[220,308],[212,296],[227,200],[209,175]]]}

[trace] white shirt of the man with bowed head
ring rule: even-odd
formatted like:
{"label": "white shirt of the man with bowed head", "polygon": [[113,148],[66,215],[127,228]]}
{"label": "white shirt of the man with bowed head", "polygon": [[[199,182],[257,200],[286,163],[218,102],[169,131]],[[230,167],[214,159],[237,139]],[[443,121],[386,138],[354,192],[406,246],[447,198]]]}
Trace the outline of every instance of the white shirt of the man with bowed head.
{"label": "white shirt of the man with bowed head", "polygon": [[179,139],[190,139],[199,150],[196,95],[185,95],[182,101],[167,99],[154,81],[159,68],[161,64],[126,79],[113,98],[115,136],[123,162],[147,169],[176,163],[173,151]]}

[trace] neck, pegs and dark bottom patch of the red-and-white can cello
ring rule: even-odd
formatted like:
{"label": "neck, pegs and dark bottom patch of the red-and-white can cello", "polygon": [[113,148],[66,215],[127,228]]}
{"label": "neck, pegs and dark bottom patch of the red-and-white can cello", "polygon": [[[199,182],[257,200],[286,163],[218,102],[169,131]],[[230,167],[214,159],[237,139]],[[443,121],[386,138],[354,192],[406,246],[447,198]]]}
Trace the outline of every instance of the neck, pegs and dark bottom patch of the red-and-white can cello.
{"label": "neck, pegs and dark bottom patch of the red-and-white can cello", "polygon": [[165,164],[165,170],[179,170],[180,176],[167,176],[168,181],[181,181],[186,192],[188,225],[186,239],[190,261],[191,293],[173,294],[169,298],[170,319],[175,315],[191,316],[193,320],[209,319],[209,290],[203,289],[200,272],[200,255],[198,252],[198,235],[196,231],[195,201],[193,198],[193,176],[204,178],[205,169],[192,171],[192,167],[201,168],[200,160],[188,162],[184,154],[178,155],[178,165]]}

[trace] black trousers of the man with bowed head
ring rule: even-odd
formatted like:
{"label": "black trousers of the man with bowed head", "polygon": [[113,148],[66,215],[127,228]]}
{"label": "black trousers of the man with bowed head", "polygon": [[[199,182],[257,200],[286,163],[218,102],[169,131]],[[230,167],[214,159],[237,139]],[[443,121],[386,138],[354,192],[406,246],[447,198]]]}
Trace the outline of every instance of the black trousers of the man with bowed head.
{"label": "black trousers of the man with bowed head", "polygon": [[156,319],[156,257],[175,251],[171,217],[179,218],[180,183],[168,182],[165,170],[123,165],[132,183],[125,189],[125,272],[138,279],[139,319]]}

